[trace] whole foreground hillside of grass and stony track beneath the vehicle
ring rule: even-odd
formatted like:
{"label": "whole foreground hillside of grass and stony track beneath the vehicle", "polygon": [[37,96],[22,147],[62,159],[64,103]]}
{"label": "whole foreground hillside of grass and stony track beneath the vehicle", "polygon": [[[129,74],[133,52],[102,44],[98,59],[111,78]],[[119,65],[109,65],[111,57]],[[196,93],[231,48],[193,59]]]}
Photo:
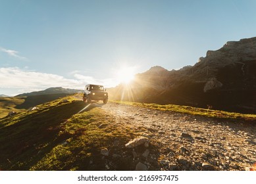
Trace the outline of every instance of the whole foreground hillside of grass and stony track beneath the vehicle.
{"label": "whole foreground hillside of grass and stony track beneath the vehicle", "polygon": [[0,169],[245,170],[256,162],[255,121],[249,114],[86,104],[81,95],[68,96],[0,120]]}

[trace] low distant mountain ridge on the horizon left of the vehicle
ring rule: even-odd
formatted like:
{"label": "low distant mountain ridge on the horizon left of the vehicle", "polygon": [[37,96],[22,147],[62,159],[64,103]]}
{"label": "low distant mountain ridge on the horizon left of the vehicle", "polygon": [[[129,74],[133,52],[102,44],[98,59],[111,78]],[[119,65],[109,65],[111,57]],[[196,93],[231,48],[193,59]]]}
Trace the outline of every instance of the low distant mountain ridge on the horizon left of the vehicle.
{"label": "low distant mountain ridge on the horizon left of the vehicle", "polygon": [[16,97],[29,97],[34,95],[52,95],[52,94],[72,94],[72,93],[80,93],[82,90],[80,89],[66,89],[63,87],[50,87],[43,91],[34,91],[31,93],[22,93],[20,95],[16,95]]}

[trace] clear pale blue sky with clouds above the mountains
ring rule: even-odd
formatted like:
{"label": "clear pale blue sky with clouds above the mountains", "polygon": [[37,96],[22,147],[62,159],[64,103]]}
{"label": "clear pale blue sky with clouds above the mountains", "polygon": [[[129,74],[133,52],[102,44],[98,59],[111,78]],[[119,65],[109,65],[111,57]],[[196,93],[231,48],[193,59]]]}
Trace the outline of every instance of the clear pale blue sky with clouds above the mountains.
{"label": "clear pale blue sky with clouds above the mountains", "polygon": [[253,0],[0,0],[0,94],[111,87],[125,67],[193,65],[255,37],[255,9]]}

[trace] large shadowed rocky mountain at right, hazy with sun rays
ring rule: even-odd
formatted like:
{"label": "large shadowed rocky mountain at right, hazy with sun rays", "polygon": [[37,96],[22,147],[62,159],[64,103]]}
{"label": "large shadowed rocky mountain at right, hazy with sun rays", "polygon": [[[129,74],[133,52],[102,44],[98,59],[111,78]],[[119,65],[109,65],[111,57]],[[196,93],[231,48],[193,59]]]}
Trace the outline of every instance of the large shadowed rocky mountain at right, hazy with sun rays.
{"label": "large shadowed rocky mountain at right, hazy with sun rays", "polygon": [[180,70],[154,66],[109,93],[116,100],[256,113],[256,37],[228,41]]}

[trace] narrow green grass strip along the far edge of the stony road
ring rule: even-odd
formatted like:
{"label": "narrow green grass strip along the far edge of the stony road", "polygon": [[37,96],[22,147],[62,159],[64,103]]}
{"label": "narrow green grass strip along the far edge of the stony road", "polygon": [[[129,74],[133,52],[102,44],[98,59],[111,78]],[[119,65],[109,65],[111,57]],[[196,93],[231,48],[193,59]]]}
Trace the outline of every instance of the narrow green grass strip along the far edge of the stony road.
{"label": "narrow green grass strip along the far edge of the stony road", "polygon": [[205,116],[209,118],[224,118],[229,120],[245,120],[245,121],[256,121],[256,114],[241,114],[236,112],[226,112],[222,110],[211,110],[205,108],[196,108],[192,106],[182,106],[176,104],[148,104],[148,103],[133,103],[126,101],[112,101],[113,103],[129,104],[135,106],[141,106],[144,108],[151,108],[156,110],[179,112],[184,114],[191,114],[194,116]]}

